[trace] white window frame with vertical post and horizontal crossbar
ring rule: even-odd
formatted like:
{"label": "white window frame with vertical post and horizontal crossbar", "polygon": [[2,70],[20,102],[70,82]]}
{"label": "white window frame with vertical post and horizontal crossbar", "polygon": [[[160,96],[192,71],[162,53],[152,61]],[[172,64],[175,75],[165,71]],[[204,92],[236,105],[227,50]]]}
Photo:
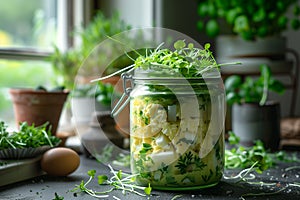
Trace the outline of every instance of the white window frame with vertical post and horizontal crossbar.
{"label": "white window frame with vertical post and horizontal crossbar", "polygon": [[[61,51],[80,44],[78,38],[71,37],[71,32],[86,21],[90,2],[85,0],[57,0],[57,42]],[[54,48],[53,48],[54,50]],[[26,47],[0,47],[0,59],[9,60],[43,60],[49,57],[53,50],[42,50]]]}

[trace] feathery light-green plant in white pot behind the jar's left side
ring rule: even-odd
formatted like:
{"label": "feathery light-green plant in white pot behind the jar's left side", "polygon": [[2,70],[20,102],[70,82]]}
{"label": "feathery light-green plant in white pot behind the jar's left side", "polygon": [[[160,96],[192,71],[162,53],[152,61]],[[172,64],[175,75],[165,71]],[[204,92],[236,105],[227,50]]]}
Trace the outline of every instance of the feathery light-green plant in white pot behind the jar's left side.
{"label": "feathery light-green plant in white pot behind the jar's left side", "polygon": [[[99,70],[107,67],[106,64],[110,61],[110,57],[98,52],[95,52],[92,57],[90,57],[90,55],[95,47],[108,39],[108,37],[126,31],[129,28],[130,26],[127,25],[117,13],[114,13],[111,17],[106,17],[101,11],[98,11],[84,28],[74,31],[73,35],[81,39],[82,44],[80,46],[73,47],[65,52],[54,47],[54,53],[50,55],[49,60],[52,62],[53,69],[57,74],[58,79],[56,81],[65,85],[68,89],[73,90],[72,98],[75,99],[75,102],[80,101],[83,102],[83,104],[93,102],[92,105],[94,105],[95,87],[90,86],[90,80],[92,76],[100,74]],[[105,52],[109,52],[110,54],[119,53],[113,46],[106,47]],[[118,58],[107,67],[107,73],[117,71],[123,66],[127,66],[128,62],[132,61],[129,60],[127,56]],[[82,68],[84,69],[81,70]],[[111,84],[117,82],[115,77],[110,81]],[[101,91],[97,90],[97,96],[101,96],[100,93]],[[93,95],[93,97],[91,97],[91,95]],[[81,111],[86,113],[86,111],[90,110],[94,110],[94,106],[91,107],[91,104],[86,104],[85,108]],[[77,113],[77,111],[73,109],[72,111]],[[79,113],[81,113],[81,111],[79,111]],[[85,117],[79,118],[80,121],[88,121],[90,117],[90,114],[86,114]]]}

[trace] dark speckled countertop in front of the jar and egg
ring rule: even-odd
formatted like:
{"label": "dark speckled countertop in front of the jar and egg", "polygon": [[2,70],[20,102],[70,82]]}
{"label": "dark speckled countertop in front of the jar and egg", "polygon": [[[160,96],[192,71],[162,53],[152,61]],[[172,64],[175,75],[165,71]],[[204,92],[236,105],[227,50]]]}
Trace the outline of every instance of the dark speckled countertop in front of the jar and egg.
{"label": "dark speckled countertop in front of the jar and egg", "polygon": [[[79,185],[82,180],[87,180],[87,171],[91,169],[97,170],[97,175],[109,174],[107,166],[102,165],[94,159],[81,155],[80,167],[68,177],[51,177],[42,175],[30,180],[10,184],[0,187],[0,199],[2,200],[32,200],[32,199],[54,199],[55,192],[68,199],[95,199],[87,194],[74,195],[71,190],[75,185]],[[286,171],[288,167],[296,166],[294,169]],[[240,170],[225,170],[225,176],[236,175]],[[262,174],[255,174],[255,179],[250,180],[257,184],[235,183],[233,180],[223,179],[218,185],[195,191],[186,192],[170,192],[170,191],[152,191],[152,195],[148,199],[242,199],[245,194],[254,193],[276,193],[268,196],[243,196],[245,199],[299,199],[300,198],[300,163],[280,163],[277,166],[264,171]],[[0,177],[1,178],[1,177]],[[270,185],[262,185],[263,181]],[[298,184],[293,186],[289,184]],[[90,187],[101,191],[106,186],[98,186],[96,181],[91,182]],[[180,195],[180,196],[176,196]],[[135,194],[123,195],[120,190],[115,190],[109,194],[107,199],[147,199]]]}

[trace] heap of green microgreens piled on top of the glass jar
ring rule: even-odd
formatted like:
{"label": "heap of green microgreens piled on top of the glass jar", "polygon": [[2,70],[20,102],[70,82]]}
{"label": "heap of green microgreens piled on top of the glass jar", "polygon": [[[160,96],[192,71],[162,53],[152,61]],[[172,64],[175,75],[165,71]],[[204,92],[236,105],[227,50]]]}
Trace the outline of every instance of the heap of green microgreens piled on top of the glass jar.
{"label": "heap of green microgreens piled on top of the glass jar", "polygon": [[[126,45],[111,37],[109,38],[122,45]],[[212,52],[209,50],[209,43],[204,45],[204,49],[196,48],[193,43],[186,45],[184,40],[177,40],[174,43],[175,50],[161,48],[163,45],[164,43],[158,45],[154,50],[146,49],[144,54],[140,54],[132,48],[132,51],[138,55],[136,59],[133,59],[134,64],[105,77],[94,79],[91,82],[105,80],[137,68],[153,70],[156,76],[160,74],[171,75],[172,77],[199,78],[203,73],[211,69],[216,68],[219,70],[220,66],[240,64],[238,62],[217,64]]]}

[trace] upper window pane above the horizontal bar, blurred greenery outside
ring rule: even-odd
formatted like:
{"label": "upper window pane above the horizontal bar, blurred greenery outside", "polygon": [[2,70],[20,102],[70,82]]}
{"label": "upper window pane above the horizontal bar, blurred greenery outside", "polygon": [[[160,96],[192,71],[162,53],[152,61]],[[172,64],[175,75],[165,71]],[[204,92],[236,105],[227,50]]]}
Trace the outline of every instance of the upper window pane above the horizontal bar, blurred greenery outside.
{"label": "upper window pane above the horizontal bar, blurred greenery outside", "polygon": [[1,48],[50,50],[56,42],[56,1],[9,0],[0,7]]}

